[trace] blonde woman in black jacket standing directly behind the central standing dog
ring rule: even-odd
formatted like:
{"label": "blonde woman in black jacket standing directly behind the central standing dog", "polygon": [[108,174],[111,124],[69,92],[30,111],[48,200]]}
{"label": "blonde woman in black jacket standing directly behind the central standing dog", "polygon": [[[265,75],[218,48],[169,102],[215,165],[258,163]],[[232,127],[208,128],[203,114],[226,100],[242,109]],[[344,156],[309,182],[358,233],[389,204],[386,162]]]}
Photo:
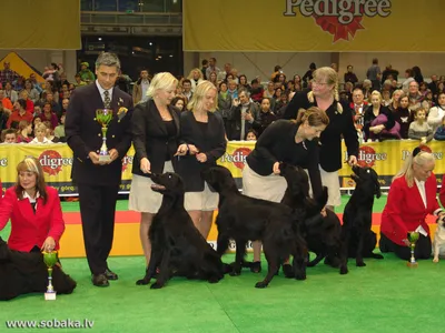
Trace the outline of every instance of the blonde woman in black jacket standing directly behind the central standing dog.
{"label": "blonde woman in black jacket standing directly behind the central standing dog", "polygon": [[200,175],[205,168],[216,165],[226,152],[227,141],[222,118],[215,112],[217,89],[209,81],[197,85],[188,110],[180,115],[178,172],[186,186],[185,208],[196,228],[207,239],[218,194],[211,192]]}

